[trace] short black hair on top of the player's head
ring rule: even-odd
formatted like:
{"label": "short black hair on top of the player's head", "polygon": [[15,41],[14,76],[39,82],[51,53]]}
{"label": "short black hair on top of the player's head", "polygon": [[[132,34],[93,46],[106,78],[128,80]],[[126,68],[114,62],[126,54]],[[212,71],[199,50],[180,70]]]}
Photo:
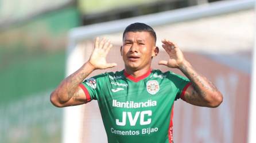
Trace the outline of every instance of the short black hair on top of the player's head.
{"label": "short black hair on top of the player's head", "polygon": [[142,32],[142,31],[149,32],[149,34],[154,37],[154,42],[157,41],[157,36],[156,36],[156,32],[154,31],[154,29],[152,27],[150,27],[149,25],[146,25],[145,23],[139,23],[139,22],[132,23],[129,26],[127,26],[125,31],[123,31],[123,37],[125,36],[125,33],[127,33],[127,32]]}

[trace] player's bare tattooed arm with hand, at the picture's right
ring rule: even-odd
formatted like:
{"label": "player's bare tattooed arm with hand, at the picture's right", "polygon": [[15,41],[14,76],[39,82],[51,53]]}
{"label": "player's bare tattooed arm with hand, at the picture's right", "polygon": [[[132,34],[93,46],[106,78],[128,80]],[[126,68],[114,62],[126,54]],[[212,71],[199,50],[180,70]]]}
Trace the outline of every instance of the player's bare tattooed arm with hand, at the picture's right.
{"label": "player's bare tattooed arm with hand, at the picture's right", "polygon": [[201,76],[184,58],[181,50],[172,42],[162,41],[165,51],[169,54],[168,61],[160,61],[160,65],[180,69],[192,82],[184,94],[184,100],[192,105],[215,108],[222,103],[223,96],[206,77]]}

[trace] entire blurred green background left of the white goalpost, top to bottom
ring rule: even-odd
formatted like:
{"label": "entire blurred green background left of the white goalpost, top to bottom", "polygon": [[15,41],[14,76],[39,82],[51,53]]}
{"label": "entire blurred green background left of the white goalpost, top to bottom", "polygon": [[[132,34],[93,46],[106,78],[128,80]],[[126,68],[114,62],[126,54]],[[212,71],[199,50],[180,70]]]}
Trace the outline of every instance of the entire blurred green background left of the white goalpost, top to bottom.
{"label": "entire blurred green background left of the white goalpost, top to bottom", "polygon": [[68,31],[79,23],[71,5],[0,30],[0,142],[61,142],[63,110],[49,96],[65,75]]}

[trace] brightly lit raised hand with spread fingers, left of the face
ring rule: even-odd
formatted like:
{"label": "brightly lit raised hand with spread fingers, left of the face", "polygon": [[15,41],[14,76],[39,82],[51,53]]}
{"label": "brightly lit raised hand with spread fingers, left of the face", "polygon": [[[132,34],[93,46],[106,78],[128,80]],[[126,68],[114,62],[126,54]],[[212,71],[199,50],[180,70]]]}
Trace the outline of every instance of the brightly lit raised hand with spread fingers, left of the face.
{"label": "brightly lit raised hand with spread fingers, left of the face", "polygon": [[99,37],[95,40],[94,51],[92,51],[89,62],[94,67],[94,69],[107,69],[114,66],[117,66],[117,63],[107,63],[106,56],[108,51],[113,47],[110,43],[110,40],[106,38],[99,39]]}

